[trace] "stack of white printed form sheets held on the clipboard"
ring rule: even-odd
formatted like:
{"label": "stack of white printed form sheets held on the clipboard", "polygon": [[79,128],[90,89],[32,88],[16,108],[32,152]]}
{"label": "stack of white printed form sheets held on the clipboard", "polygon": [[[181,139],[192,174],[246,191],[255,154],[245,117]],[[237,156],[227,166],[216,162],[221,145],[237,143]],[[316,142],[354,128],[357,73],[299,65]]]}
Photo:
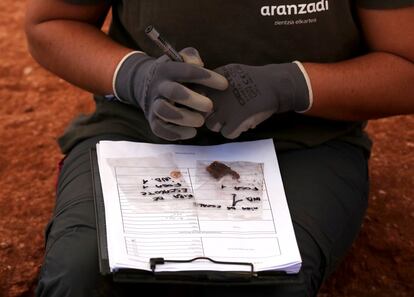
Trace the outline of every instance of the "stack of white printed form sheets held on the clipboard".
{"label": "stack of white printed form sheets held on the clipboard", "polygon": [[[297,273],[301,257],[272,140],[97,144],[111,271],[150,258],[247,262]],[[205,260],[157,271],[247,270]]]}

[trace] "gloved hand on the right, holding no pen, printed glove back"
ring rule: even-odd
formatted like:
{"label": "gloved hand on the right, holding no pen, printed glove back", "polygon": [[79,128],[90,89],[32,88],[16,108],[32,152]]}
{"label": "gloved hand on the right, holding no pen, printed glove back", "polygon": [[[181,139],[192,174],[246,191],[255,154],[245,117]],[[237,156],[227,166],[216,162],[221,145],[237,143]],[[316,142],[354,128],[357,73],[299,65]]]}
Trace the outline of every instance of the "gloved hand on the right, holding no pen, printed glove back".
{"label": "gloved hand on the right, holding no pen, printed glove back", "polygon": [[[214,111],[206,126],[226,138],[236,138],[274,113],[306,111],[311,107],[311,89],[299,62],[247,66],[229,64],[216,69],[229,88],[208,91]],[[309,86],[309,87],[308,87]]]}

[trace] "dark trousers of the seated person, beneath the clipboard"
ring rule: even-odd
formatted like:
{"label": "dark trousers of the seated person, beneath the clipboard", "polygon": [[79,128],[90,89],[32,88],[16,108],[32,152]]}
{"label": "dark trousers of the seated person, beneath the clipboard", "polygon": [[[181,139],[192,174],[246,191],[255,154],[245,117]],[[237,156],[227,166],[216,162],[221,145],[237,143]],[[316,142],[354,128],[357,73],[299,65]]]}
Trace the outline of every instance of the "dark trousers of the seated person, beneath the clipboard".
{"label": "dark trousers of the seated person, beneath the clipboard", "polygon": [[279,152],[303,261],[302,283],[260,287],[113,283],[102,277],[98,268],[89,149],[99,140],[125,139],[113,135],[92,138],[78,144],[65,158],[55,211],[46,230],[37,296],[139,296],[144,292],[152,297],[316,296],[323,280],[350,248],[367,207],[368,164],[363,149],[330,141]]}

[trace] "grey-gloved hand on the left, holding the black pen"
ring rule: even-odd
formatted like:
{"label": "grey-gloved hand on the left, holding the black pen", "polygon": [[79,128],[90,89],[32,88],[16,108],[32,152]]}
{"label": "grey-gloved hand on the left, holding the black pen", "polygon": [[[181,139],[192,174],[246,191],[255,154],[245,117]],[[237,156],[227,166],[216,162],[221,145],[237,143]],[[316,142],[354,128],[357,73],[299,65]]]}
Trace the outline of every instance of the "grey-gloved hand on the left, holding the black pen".
{"label": "grey-gloved hand on the left, holding the black pen", "polygon": [[182,83],[217,90],[228,86],[223,76],[202,67],[197,50],[186,48],[180,54],[185,63],[171,61],[166,55],[155,59],[134,52],[119,63],[114,75],[116,97],[140,107],[152,132],[171,141],[194,137],[195,128],[204,124],[202,113],[211,112],[213,108],[209,98]]}

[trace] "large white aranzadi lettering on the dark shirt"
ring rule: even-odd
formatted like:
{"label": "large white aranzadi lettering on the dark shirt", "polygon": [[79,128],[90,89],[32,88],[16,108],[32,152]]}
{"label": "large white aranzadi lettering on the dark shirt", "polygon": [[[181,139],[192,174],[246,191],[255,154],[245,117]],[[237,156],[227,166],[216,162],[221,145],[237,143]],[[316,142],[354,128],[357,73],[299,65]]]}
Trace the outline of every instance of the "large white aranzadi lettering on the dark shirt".
{"label": "large white aranzadi lettering on the dark shirt", "polygon": [[260,8],[262,16],[306,15],[329,10],[329,1],[303,4],[266,5]]}

